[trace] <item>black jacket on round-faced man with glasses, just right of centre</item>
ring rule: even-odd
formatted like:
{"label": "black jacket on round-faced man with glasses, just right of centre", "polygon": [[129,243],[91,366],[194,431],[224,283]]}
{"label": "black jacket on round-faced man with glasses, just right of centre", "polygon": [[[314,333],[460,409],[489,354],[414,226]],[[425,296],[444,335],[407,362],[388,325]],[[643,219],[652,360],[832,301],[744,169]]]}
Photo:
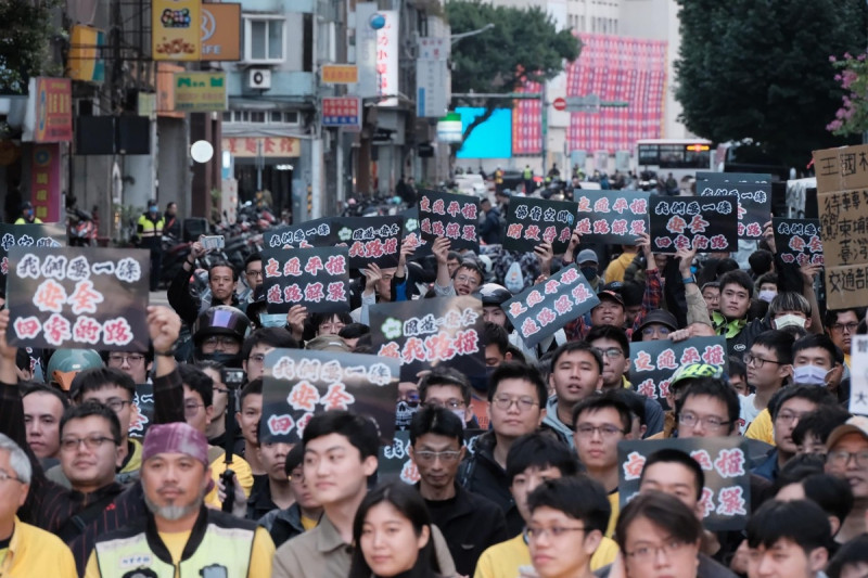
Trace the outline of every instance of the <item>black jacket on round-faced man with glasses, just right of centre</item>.
{"label": "black jacket on round-faced man with glasses, just right of centre", "polygon": [[524,519],[509,491],[507,472],[495,461],[496,444],[494,432],[480,436],[476,451],[461,463],[458,483],[499,505],[507,518],[507,536],[515,536],[524,528]]}

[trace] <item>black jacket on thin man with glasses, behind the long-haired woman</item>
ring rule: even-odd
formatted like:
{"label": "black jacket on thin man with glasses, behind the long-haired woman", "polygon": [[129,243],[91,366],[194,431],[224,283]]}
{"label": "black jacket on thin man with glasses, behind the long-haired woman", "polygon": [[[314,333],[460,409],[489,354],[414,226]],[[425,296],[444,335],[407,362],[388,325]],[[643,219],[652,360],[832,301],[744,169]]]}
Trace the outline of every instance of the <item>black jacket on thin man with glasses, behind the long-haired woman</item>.
{"label": "black jacket on thin man with glasses, behind the long-haired woman", "polygon": [[458,574],[472,576],[485,549],[507,539],[507,522],[496,503],[458,484],[455,487],[455,498],[425,500],[425,504],[446,539]]}

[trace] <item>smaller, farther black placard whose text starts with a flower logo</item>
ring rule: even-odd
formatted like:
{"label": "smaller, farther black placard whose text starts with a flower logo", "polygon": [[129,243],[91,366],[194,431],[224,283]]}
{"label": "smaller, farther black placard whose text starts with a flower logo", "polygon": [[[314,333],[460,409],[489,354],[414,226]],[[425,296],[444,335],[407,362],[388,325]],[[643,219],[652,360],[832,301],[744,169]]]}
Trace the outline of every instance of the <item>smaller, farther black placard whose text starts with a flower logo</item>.
{"label": "smaller, farther black placard whose text starts with a flower logo", "polygon": [[339,245],[349,247],[350,269],[363,269],[372,262],[380,267],[398,266],[404,217],[336,217],[332,226]]}

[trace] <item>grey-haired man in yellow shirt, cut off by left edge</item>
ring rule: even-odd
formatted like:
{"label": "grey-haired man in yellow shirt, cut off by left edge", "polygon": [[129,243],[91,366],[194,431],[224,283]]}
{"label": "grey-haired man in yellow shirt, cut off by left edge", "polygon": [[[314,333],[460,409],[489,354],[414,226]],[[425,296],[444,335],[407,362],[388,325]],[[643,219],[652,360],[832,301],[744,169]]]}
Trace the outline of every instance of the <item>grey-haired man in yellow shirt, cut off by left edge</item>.
{"label": "grey-haired man in yellow shirt, cut off by left edge", "polygon": [[75,578],[75,561],[66,544],[15,515],[27,499],[31,477],[27,454],[0,434],[0,576]]}

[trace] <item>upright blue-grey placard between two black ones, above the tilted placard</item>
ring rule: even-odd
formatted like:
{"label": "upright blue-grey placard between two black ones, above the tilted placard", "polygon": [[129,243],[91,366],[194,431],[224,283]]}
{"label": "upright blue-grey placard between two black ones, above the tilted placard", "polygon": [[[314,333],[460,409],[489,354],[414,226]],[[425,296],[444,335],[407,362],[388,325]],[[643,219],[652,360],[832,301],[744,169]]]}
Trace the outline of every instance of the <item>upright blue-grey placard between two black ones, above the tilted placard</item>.
{"label": "upright blue-grey placard between two black ones, above the tilted placard", "polygon": [[577,189],[576,231],[582,242],[634,245],[648,232],[647,191],[590,191]]}

